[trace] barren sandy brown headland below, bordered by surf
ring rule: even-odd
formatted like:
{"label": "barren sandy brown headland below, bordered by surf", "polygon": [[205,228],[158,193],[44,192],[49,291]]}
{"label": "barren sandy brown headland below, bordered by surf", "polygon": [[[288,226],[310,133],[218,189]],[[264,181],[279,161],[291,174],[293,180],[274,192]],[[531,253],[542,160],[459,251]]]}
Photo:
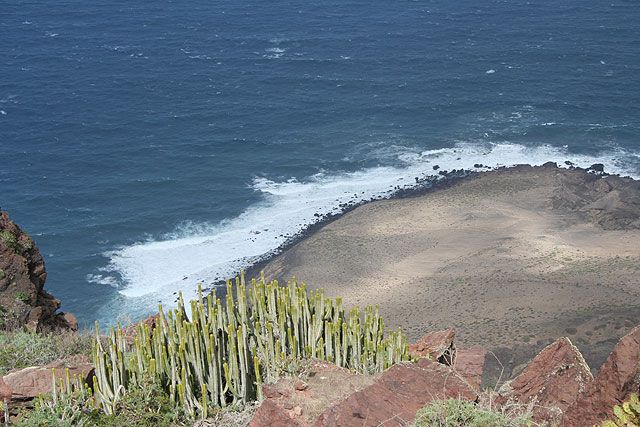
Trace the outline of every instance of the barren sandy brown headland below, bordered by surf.
{"label": "barren sandy brown headland below, bordered by surf", "polygon": [[640,318],[640,185],[555,165],[474,174],[360,206],[273,258],[410,340],[456,328],[511,376],[568,336],[597,367]]}

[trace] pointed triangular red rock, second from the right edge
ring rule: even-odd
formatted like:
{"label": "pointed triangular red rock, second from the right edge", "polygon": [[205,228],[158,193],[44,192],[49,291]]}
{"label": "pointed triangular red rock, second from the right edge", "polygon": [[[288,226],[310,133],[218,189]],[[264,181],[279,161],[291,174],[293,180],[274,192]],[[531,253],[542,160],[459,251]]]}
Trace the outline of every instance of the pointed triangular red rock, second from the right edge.
{"label": "pointed triangular red rock, second from the right edge", "polygon": [[564,411],[592,382],[593,375],[580,351],[568,338],[561,338],[545,347],[522,374],[500,388],[498,403],[535,405],[534,421],[560,424]]}

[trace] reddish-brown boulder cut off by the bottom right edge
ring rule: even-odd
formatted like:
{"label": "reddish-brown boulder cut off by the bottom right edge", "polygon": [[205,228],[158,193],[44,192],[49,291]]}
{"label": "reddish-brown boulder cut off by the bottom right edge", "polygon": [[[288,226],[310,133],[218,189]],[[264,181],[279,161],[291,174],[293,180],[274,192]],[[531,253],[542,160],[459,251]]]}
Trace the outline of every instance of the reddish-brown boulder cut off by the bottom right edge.
{"label": "reddish-brown boulder cut off by the bottom right edge", "polygon": [[613,417],[613,406],[640,392],[640,326],[625,335],[598,376],[564,415],[565,427],[591,426]]}

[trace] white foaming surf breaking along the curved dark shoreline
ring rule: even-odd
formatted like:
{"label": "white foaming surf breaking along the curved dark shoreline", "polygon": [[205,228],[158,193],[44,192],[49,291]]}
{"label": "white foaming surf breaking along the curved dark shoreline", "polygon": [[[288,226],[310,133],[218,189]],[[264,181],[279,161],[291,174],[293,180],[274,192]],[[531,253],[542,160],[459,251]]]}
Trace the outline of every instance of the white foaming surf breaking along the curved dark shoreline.
{"label": "white foaming surf breaking along the curved dark shoreline", "polygon": [[[318,215],[337,213],[345,204],[410,188],[415,185],[416,177],[435,174],[435,165],[439,170],[473,170],[476,164],[499,167],[555,161],[562,166],[570,161],[588,167],[603,163],[607,172],[638,178],[638,170],[626,168],[626,164],[635,164],[635,161],[623,151],[586,156],[548,145],[529,148],[517,144],[472,143],[422,152],[400,146],[397,149],[396,160],[400,165],[395,167],[319,173],[304,181],[256,178],[251,186],[262,193],[263,199],[238,217],[213,225],[186,223],[164,240],[141,242],[108,253],[110,262],[106,270],[121,277],[119,291],[124,296],[149,296],[154,303],[161,300],[170,306],[178,289],[185,293],[185,298],[191,298],[197,283],[211,284],[235,276],[257,257],[275,250],[317,221]],[[105,276],[92,277],[91,281],[113,285]]]}

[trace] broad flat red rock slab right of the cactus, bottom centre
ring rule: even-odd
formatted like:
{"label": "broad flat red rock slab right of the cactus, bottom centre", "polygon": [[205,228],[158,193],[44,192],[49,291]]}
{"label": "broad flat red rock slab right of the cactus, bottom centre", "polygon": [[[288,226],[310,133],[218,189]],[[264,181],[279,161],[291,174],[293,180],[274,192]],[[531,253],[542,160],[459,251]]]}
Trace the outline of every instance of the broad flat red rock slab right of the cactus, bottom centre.
{"label": "broad flat red rock slab right of the cactus, bottom centre", "polygon": [[451,368],[422,358],[385,371],[373,385],[326,410],[314,426],[406,426],[432,399],[475,401],[476,392]]}

